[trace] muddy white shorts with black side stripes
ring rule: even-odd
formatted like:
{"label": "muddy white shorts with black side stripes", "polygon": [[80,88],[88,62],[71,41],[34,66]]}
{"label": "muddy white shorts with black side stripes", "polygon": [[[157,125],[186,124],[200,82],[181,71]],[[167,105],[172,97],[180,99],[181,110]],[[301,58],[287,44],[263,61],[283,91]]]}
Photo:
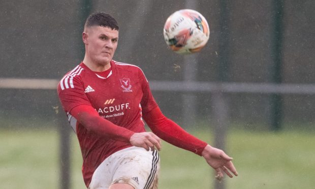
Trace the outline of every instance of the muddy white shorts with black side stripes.
{"label": "muddy white shorts with black side stripes", "polygon": [[127,183],[135,189],[155,189],[160,172],[159,153],[129,147],[108,156],[93,173],[89,189]]}

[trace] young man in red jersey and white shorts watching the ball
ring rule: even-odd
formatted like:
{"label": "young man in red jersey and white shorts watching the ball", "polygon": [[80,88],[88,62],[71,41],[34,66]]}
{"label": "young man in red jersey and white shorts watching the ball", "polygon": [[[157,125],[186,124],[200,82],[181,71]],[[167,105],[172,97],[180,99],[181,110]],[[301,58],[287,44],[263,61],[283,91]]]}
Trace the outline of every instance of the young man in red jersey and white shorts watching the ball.
{"label": "young man in red jersey and white shorts watching the ball", "polygon": [[[162,114],[140,68],[112,60],[118,42],[112,16],[91,14],[82,39],[84,59],[61,79],[57,90],[80,143],[88,188],[157,188],[160,138],[203,156],[219,179],[224,173],[237,175],[224,151]],[[143,120],[153,133],[145,131]]]}

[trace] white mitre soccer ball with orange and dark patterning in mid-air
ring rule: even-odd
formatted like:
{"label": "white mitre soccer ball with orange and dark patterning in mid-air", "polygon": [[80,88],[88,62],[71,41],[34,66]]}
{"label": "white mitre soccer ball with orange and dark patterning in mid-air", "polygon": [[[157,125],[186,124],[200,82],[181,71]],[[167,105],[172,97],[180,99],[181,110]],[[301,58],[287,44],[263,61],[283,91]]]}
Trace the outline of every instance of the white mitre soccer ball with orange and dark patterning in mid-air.
{"label": "white mitre soccer ball with orange and dark patterning in mid-air", "polygon": [[209,40],[207,20],[191,9],[174,12],[166,20],[163,31],[166,44],[179,54],[199,52]]}

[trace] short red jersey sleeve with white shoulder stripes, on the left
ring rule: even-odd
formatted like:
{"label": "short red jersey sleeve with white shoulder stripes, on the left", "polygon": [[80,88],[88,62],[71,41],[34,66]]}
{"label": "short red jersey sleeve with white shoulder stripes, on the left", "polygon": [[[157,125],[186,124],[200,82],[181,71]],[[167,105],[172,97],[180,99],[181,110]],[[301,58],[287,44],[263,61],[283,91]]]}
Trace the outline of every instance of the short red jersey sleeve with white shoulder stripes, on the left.
{"label": "short red jersey sleeve with white shoulder stripes, on the left", "polygon": [[62,108],[66,112],[70,112],[74,107],[79,105],[89,105],[90,101],[84,93],[84,87],[79,77],[73,77],[71,83],[65,80],[67,77],[62,78],[58,83],[57,92],[61,102]]}

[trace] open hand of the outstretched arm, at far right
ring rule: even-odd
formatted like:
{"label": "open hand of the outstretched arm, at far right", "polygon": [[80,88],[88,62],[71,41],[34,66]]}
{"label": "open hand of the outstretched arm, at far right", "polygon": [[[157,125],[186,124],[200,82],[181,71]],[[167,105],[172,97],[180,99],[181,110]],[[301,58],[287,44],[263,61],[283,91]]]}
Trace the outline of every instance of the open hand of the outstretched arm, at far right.
{"label": "open hand of the outstretched arm, at far right", "polygon": [[[221,181],[224,173],[233,177],[232,173],[237,176],[238,173],[232,163],[232,157],[228,156],[223,150],[207,145],[201,155],[206,162],[216,171],[215,178]],[[231,173],[232,172],[232,173]]]}

